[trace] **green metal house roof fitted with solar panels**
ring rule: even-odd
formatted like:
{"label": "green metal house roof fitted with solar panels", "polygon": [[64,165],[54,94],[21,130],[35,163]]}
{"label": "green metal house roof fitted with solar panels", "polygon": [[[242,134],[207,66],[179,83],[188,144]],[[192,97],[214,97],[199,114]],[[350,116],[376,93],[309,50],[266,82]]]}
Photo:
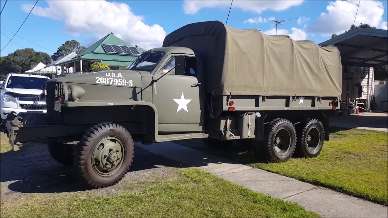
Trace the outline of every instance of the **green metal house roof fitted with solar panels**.
{"label": "green metal house roof fitted with solar panels", "polygon": [[[109,33],[104,38],[100,39],[98,42],[94,43],[87,49],[85,49],[83,52],[78,54],[77,56],[73,57],[72,59],[62,62],[61,64],[67,64],[74,61],[80,61],[80,60],[87,60],[87,61],[103,61],[109,66],[129,66],[132,64],[133,61],[137,58],[137,55],[130,55],[130,54],[112,54],[112,53],[105,53],[104,49],[102,48],[101,44],[111,44],[111,45],[123,45],[123,46],[131,46],[130,43],[127,43],[117,36],[115,36],[113,33]],[[138,47],[137,48],[140,52],[140,54],[145,51],[143,48]],[[125,64],[124,64],[125,63]]]}

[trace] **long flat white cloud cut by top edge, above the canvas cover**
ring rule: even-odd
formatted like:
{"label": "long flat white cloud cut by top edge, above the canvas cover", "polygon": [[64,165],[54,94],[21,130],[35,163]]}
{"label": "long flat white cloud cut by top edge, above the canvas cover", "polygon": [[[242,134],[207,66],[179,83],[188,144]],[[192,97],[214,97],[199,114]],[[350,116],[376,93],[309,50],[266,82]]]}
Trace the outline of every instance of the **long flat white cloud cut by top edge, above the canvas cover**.
{"label": "long flat white cloud cut by top edge, above the canvas cover", "polygon": [[[231,1],[225,0],[185,0],[183,4],[183,10],[185,14],[196,14],[203,8],[228,8]],[[282,11],[292,6],[301,5],[303,0],[260,0],[260,1],[247,1],[239,0],[234,1],[232,8],[239,8],[247,12],[255,12],[260,14],[265,10]]]}

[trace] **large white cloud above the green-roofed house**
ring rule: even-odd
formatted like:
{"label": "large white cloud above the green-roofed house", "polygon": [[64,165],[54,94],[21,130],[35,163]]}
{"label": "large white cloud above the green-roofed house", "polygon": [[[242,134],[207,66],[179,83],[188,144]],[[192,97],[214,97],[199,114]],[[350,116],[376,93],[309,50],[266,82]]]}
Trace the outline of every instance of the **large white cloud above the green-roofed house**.
{"label": "large white cloud above the green-roofed house", "polygon": [[[145,24],[143,17],[133,14],[125,3],[101,0],[47,2],[49,7],[35,6],[32,14],[64,21],[65,31],[74,35],[85,32],[102,38],[113,32],[119,38],[129,39],[132,44],[145,49],[161,47],[166,36],[161,26]],[[31,4],[23,4],[21,10],[29,12],[31,7]]]}

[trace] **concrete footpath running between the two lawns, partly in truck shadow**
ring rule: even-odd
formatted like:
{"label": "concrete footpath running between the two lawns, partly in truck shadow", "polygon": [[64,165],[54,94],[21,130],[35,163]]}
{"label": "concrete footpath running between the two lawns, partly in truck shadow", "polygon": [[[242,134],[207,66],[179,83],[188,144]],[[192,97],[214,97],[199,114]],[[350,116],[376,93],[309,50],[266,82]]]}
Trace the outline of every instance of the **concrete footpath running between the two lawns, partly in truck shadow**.
{"label": "concrete footpath running between the two lawns, partly in truck shadow", "polygon": [[230,182],[272,197],[296,202],[324,217],[388,217],[388,207],[333,190],[234,163],[173,142],[136,144],[154,154],[208,171]]}

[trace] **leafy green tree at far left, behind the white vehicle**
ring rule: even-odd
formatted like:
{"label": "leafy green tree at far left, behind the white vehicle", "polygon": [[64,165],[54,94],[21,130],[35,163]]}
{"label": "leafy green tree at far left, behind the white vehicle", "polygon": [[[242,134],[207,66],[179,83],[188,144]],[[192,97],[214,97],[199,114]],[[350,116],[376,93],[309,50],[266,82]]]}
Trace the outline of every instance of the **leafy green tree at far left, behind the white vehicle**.
{"label": "leafy green tree at far left, behind the white vehicle", "polygon": [[23,73],[39,62],[49,64],[51,59],[50,55],[45,52],[37,52],[33,48],[24,48],[1,57],[0,61],[2,66],[1,74],[5,76],[8,73]]}

